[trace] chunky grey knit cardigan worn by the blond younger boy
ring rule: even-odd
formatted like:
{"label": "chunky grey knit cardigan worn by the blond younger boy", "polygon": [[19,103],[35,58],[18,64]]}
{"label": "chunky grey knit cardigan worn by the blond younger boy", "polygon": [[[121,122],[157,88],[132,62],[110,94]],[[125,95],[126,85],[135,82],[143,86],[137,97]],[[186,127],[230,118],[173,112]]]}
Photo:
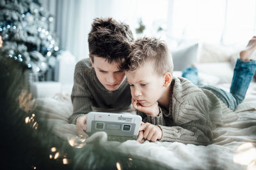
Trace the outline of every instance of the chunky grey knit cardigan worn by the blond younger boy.
{"label": "chunky grey knit cardigan worn by the blond younger boy", "polygon": [[159,125],[163,131],[160,141],[208,145],[217,125],[237,118],[210,90],[200,89],[185,78],[173,78],[170,96],[169,111],[160,107],[157,117],[138,112],[143,122]]}

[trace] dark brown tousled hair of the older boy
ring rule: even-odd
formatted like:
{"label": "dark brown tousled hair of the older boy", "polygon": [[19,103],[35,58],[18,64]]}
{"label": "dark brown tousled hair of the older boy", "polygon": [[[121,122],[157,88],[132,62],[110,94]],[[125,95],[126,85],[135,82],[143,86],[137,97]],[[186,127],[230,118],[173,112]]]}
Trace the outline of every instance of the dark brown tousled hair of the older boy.
{"label": "dark brown tousled hair of the older boy", "polygon": [[129,25],[113,18],[95,18],[88,34],[89,52],[111,62],[122,62],[131,53],[134,41]]}

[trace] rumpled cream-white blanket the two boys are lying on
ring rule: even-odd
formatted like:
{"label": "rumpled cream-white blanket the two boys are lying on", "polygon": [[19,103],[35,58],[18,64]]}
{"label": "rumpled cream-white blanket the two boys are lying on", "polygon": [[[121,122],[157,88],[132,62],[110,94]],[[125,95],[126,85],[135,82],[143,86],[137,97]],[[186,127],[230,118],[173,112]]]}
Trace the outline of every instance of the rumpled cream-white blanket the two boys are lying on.
{"label": "rumpled cream-white blanket the two boys are lying on", "polygon": [[[228,90],[230,84],[218,87]],[[76,136],[76,126],[68,124],[72,114],[70,96],[58,94],[54,98],[36,99],[40,118],[47,118],[52,131],[67,139],[71,146],[83,147],[95,139],[106,145],[106,133],[98,132],[83,140]],[[214,142],[207,146],[184,145],[183,143],[136,141],[113,143],[120,152],[131,153],[158,162],[173,169],[256,169],[256,83],[251,83],[246,99],[236,113],[236,122],[214,130]],[[100,137],[100,138],[99,138]]]}

